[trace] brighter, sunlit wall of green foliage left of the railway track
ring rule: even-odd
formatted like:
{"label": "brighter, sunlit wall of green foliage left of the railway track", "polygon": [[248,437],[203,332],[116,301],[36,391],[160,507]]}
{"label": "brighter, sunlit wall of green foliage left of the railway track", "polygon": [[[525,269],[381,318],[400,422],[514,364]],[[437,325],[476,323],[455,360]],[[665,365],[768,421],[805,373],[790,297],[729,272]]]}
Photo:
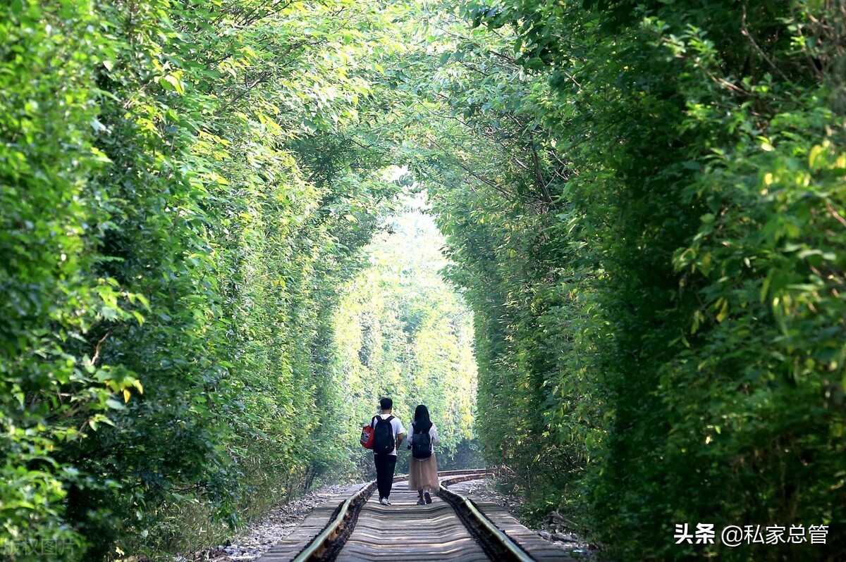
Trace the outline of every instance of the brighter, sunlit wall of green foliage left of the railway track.
{"label": "brighter, sunlit wall of green foliage left of the railway track", "polygon": [[3,3],[4,554],[197,543],[346,462],[331,311],[397,187],[369,10]]}

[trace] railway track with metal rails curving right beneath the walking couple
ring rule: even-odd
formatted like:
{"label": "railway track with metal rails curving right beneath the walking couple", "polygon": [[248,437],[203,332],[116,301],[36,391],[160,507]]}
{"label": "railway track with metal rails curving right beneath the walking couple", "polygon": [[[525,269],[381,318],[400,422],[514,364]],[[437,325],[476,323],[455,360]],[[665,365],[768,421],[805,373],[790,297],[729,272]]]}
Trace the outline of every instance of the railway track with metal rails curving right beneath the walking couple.
{"label": "railway track with metal rails curving right beneath the walking couple", "polygon": [[491,472],[445,471],[438,476],[441,488],[430,505],[417,505],[417,493],[404,486],[404,476],[394,478],[392,505],[370,500],[375,482],[348,488],[316,508],[257,562],[573,560],[502,506],[476,504],[449,488]]}

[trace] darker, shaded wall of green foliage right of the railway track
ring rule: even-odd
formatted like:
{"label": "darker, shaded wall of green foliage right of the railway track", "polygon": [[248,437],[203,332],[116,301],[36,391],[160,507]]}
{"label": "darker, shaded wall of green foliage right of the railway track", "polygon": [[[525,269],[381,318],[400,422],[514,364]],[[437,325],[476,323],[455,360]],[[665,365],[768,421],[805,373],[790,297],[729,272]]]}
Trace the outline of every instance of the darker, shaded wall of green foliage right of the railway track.
{"label": "darker, shaded wall of green foliage right of the railway track", "polygon": [[842,556],[673,544],[846,518],[842,3],[467,14],[431,87],[460,127],[417,169],[488,459],[613,559]]}

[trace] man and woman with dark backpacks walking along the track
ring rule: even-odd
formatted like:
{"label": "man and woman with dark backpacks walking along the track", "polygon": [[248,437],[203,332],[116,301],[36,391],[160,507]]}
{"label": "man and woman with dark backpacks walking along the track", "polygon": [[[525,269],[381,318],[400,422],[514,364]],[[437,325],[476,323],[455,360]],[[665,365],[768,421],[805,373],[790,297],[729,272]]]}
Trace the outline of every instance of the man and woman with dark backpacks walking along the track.
{"label": "man and woman with dark backpacks walking along the track", "polygon": [[[374,439],[380,439],[380,434],[387,433],[387,426],[391,428],[393,450],[387,446],[373,448],[373,462],[376,464],[376,487],[379,488],[379,503],[391,505],[391,488],[393,486],[393,472],[397,467],[397,448],[405,439],[405,428],[397,417],[394,417],[393,400],[382,398],[379,401],[382,410],[371,420],[371,427],[376,433]],[[381,431],[380,431],[381,429]],[[385,439],[382,437],[382,439]],[[429,410],[420,404],[415,408],[415,421],[411,423],[408,449],[411,450],[409,461],[409,489],[417,490],[420,499],[417,505],[431,504],[431,489],[438,487],[437,461],[435,460],[435,445],[437,445],[437,428],[429,419]]]}

